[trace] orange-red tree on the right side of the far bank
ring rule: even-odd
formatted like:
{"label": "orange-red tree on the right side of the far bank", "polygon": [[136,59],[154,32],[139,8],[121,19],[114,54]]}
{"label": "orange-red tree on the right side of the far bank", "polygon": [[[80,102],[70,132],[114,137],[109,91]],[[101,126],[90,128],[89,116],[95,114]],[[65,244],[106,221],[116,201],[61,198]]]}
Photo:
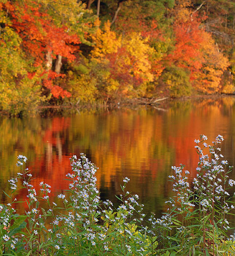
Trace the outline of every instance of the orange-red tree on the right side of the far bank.
{"label": "orange-red tree on the right side of the far bank", "polygon": [[173,30],[175,46],[168,55],[169,64],[186,70],[193,87],[202,93],[220,90],[221,77],[228,67],[211,34],[201,27],[201,19],[187,9],[190,1],[177,6]]}

